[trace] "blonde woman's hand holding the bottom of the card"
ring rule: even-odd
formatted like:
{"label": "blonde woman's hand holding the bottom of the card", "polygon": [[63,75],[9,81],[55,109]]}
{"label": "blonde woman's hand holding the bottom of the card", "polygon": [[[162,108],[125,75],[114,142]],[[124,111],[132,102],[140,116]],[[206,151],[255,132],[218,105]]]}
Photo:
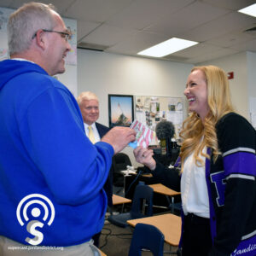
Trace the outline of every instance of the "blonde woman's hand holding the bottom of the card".
{"label": "blonde woman's hand holding the bottom of the card", "polygon": [[142,148],[139,146],[133,150],[133,154],[138,163],[143,164],[151,171],[154,171],[156,163],[152,157],[154,154],[152,149]]}

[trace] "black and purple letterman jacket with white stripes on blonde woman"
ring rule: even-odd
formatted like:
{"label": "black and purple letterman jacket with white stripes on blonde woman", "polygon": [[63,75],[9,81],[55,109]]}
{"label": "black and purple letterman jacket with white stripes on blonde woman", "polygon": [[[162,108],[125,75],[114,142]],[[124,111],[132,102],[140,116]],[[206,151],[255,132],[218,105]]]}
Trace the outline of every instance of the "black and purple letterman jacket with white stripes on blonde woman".
{"label": "black and purple letterman jacket with white stripes on blonde woman", "polygon": [[[206,160],[212,232],[211,256],[256,255],[256,131],[247,119],[228,113],[216,125],[221,154]],[[180,191],[180,175],[160,163],[152,172]],[[180,243],[182,245],[182,241]]]}

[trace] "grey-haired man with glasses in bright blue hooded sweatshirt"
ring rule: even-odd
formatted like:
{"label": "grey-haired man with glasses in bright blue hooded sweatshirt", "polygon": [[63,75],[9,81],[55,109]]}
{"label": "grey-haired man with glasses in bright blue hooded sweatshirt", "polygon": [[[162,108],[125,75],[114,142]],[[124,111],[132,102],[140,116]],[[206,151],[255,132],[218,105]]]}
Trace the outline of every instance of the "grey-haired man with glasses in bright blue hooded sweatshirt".
{"label": "grey-haired man with glasses in bright blue hooded sweatshirt", "polygon": [[64,73],[71,49],[51,5],[23,5],[8,36],[11,59],[0,62],[0,252],[98,255],[91,237],[104,223],[102,187],[113,154],[135,131],[115,127],[90,143],[76,100],[51,77]]}

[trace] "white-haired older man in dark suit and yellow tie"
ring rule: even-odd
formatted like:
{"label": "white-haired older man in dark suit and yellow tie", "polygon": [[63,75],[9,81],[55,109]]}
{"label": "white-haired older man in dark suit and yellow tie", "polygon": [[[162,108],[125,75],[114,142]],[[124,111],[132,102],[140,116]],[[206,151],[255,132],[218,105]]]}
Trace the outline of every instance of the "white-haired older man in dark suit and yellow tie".
{"label": "white-haired older man in dark suit and yellow tie", "polygon": [[[93,92],[84,91],[78,97],[79,108],[84,119],[84,130],[91,143],[97,143],[110,130],[107,126],[97,123],[99,118],[99,99]],[[104,185],[104,190],[108,197],[108,207],[112,207],[113,195],[113,172],[109,171],[108,179]],[[93,236],[94,244],[99,246],[99,238],[101,233]]]}

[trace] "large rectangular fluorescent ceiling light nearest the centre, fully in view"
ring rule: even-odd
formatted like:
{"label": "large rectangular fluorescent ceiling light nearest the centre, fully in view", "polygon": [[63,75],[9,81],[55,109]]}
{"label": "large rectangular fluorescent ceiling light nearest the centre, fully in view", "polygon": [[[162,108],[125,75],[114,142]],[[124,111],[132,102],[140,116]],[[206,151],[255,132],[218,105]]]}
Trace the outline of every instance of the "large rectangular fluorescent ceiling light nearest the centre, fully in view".
{"label": "large rectangular fluorescent ceiling light nearest the centre, fully in view", "polygon": [[137,55],[147,55],[151,57],[163,57],[166,55],[171,55],[181,49],[186,49],[190,46],[198,44],[198,42],[189,41],[180,38],[171,38],[160,44],[156,44],[148,49],[144,49],[137,53]]}

